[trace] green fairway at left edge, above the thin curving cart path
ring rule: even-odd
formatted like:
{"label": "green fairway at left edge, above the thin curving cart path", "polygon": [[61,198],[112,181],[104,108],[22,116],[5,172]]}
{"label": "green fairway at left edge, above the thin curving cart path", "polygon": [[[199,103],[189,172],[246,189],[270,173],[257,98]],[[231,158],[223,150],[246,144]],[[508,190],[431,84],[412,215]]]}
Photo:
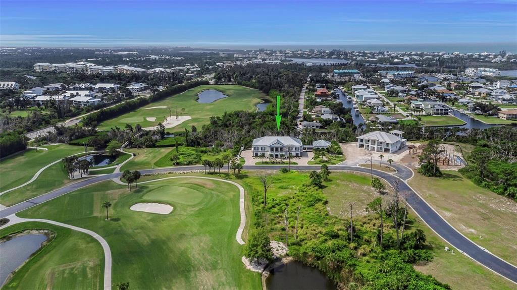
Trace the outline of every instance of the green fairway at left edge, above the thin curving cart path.
{"label": "green fairway at left edge, above the thin curving cart path", "polygon": [[[48,151],[27,149],[0,161],[0,192],[21,185],[36,174],[42,167],[63,157],[84,152],[80,146],[54,145],[45,146]],[[88,150],[93,150],[88,148]],[[44,172],[44,171],[43,171]],[[40,175],[41,176],[41,175]],[[66,173],[64,175],[66,177]]]}

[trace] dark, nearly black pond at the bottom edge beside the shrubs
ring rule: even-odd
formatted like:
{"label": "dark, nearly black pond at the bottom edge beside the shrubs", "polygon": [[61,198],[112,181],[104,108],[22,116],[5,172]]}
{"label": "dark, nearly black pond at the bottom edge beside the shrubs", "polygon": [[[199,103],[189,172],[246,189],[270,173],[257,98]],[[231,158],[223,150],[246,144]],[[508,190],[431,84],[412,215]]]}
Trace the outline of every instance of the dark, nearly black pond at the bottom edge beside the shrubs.
{"label": "dark, nearly black pond at the bottom edge beside the shrubs", "polygon": [[335,290],[337,285],[327,279],[323,273],[300,262],[289,262],[271,270],[266,279],[267,290]]}

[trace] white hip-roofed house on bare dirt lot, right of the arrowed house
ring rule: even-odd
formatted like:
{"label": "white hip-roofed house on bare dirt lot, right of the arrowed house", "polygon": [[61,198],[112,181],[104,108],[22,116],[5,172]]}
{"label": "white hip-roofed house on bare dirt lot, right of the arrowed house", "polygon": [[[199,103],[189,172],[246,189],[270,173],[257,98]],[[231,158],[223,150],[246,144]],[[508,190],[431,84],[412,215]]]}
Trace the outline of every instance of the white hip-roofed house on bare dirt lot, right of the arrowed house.
{"label": "white hip-roofed house on bare dirt lot, right of the arrowed house", "polygon": [[390,133],[374,131],[357,137],[357,147],[375,152],[393,153],[406,147],[404,132],[393,130]]}

